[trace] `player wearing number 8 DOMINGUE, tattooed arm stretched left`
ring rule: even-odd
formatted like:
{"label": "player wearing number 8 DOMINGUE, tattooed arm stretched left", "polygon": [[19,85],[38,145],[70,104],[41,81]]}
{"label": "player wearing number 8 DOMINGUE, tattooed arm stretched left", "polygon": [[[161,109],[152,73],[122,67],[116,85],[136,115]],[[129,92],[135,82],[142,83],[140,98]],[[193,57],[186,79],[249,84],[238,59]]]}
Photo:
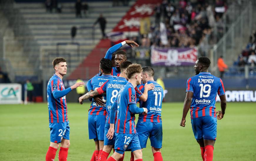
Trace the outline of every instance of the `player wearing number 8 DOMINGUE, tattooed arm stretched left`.
{"label": "player wearing number 8 DOMINGUE, tattooed arm stretched left", "polygon": [[[119,90],[121,88],[123,88],[123,86],[126,85],[128,82],[126,80],[126,75],[125,75],[124,71],[131,64],[132,64],[132,62],[130,62],[130,61],[124,61],[120,66],[121,74],[118,77],[113,78],[112,80],[108,80],[100,88],[97,88],[94,91],[88,92],[79,98],[79,102],[80,102],[80,104],[82,104],[82,101],[85,99],[89,99],[96,95],[101,95],[103,93],[107,93],[107,102],[106,102],[107,116],[106,116],[106,124],[105,124],[105,136],[107,135],[107,132],[109,130],[109,123],[110,123],[109,114],[110,114],[111,106],[114,103],[114,100],[117,97]],[[147,91],[152,90],[153,88],[154,88],[153,83],[146,84],[145,91],[142,94],[137,89],[137,87],[135,87],[136,97],[140,98],[143,96],[147,100]],[[100,160],[100,161],[107,160],[107,157],[108,157],[109,153],[111,152],[111,150],[114,146],[114,143],[115,143],[115,136],[113,136],[113,138],[111,140],[107,139],[106,137],[104,138],[104,147],[103,147],[102,152],[101,151],[99,152],[99,154],[101,154],[101,155],[99,155],[98,160]],[[119,159],[119,161],[122,161],[122,159],[123,158]]]}

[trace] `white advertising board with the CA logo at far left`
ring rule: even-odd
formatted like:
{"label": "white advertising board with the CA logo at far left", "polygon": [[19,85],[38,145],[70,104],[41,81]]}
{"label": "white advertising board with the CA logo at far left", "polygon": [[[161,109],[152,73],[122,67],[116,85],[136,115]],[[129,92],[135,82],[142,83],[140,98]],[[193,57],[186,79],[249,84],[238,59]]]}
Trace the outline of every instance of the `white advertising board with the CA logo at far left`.
{"label": "white advertising board with the CA logo at far left", "polygon": [[21,84],[0,83],[0,104],[21,103]]}

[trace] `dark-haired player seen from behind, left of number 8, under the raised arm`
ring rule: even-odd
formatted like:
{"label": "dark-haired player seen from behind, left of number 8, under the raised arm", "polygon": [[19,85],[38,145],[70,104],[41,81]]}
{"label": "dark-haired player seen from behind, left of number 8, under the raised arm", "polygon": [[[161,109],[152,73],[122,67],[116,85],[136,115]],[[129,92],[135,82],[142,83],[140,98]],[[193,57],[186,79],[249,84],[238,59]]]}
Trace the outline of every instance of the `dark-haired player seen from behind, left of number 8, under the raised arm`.
{"label": "dark-haired player seen from behind, left of number 8, under the raised arm", "polygon": [[[90,84],[92,90],[102,86],[107,80],[113,79],[111,75],[112,63],[111,60],[102,58],[100,60],[100,71],[102,76],[94,77],[91,79]],[[103,99],[106,100],[106,94],[103,94]],[[106,121],[106,105],[97,106],[94,99],[92,100],[91,107],[88,112],[88,129],[89,139],[94,139],[95,151],[92,155],[91,161],[97,161],[99,150],[104,146],[104,127]]]}

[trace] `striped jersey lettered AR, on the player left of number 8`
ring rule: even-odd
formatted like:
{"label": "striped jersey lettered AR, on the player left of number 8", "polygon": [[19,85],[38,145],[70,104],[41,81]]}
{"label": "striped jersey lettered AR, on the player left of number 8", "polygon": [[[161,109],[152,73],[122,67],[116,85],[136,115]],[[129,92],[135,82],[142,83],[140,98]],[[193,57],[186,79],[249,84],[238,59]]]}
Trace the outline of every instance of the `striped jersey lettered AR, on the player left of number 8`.
{"label": "striped jersey lettered AR, on the player left of number 8", "polygon": [[[92,90],[95,90],[95,88],[101,87],[105,82],[111,79],[113,79],[113,76],[102,75],[98,77],[93,77],[89,83],[92,86]],[[103,97],[103,100],[105,101],[107,100],[106,94],[102,94],[101,96]],[[106,106],[97,106],[94,99],[92,99],[92,104],[88,114],[89,115],[106,115]]]}

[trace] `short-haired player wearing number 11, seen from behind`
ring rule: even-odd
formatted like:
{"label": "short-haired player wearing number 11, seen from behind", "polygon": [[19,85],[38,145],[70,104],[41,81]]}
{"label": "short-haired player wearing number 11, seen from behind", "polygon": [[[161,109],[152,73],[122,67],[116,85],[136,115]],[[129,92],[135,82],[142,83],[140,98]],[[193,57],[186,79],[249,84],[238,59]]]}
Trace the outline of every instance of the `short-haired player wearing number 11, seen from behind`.
{"label": "short-haired player wearing number 11, seen from behind", "polygon": [[148,91],[146,102],[139,101],[139,107],[147,108],[148,112],[146,115],[139,114],[136,130],[141,148],[146,148],[147,139],[149,137],[154,161],[162,161],[163,158],[160,152],[163,139],[161,112],[164,90],[161,85],[154,81],[153,68],[145,66],[142,69],[143,84],[139,85],[138,88],[144,92],[145,83],[153,83],[155,87],[153,90]]}

